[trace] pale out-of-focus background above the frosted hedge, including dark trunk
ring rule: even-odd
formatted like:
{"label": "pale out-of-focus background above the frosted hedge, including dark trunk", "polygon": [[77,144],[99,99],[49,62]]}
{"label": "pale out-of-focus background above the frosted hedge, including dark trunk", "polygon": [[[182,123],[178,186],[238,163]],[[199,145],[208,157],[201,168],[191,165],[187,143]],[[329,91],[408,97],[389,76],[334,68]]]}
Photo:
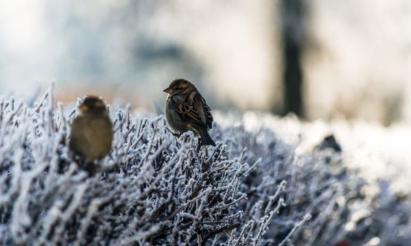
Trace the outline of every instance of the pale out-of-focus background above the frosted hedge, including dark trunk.
{"label": "pale out-of-focus background above the frosted hedge, including dark trunk", "polygon": [[0,92],[164,104],[176,78],[212,109],[411,122],[408,0],[0,1]]}

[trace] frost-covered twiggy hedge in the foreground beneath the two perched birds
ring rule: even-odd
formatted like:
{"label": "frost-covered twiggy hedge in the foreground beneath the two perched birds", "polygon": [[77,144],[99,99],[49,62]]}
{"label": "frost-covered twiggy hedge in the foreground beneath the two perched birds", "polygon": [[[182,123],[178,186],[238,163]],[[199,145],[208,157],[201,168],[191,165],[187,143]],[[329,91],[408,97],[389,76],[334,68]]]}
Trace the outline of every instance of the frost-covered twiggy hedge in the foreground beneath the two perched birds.
{"label": "frost-covered twiggy hedge in the foreground beneath the two perched birds", "polygon": [[191,133],[123,105],[89,177],[67,147],[75,109],[52,102],[52,90],[0,101],[1,245],[332,245],[354,240],[352,204],[371,208],[338,153],[296,154],[268,128],[218,122],[217,146],[197,151]]}

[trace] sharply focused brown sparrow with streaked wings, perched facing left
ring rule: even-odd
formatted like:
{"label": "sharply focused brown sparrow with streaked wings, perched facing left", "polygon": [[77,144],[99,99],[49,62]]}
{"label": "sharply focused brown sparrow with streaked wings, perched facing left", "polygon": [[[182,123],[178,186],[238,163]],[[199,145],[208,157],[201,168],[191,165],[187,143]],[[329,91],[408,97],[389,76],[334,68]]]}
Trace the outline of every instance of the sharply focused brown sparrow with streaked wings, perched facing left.
{"label": "sharply focused brown sparrow with streaked wings, perched facing left", "polygon": [[208,134],[214,120],[211,109],[195,85],[185,79],[175,79],[163,92],[169,94],[164,109],[166,120],[177,135],[192,131],[201,139],[199,146],[216,146]]}

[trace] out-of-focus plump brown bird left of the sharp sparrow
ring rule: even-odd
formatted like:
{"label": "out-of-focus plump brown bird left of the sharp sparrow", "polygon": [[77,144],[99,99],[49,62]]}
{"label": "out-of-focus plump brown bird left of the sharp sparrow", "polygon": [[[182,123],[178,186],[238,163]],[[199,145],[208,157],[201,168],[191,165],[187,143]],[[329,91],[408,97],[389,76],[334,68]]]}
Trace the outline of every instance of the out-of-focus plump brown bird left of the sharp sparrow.
{"label": "out-of-focus plump brown bird left of the sharp sparrow", "polygon": [[84,169],[95,169],[112,148],[113,129],[107,107],[97,96],[87,96],[79,105],[79,115],[71,124],[70,149],[85,159]]}

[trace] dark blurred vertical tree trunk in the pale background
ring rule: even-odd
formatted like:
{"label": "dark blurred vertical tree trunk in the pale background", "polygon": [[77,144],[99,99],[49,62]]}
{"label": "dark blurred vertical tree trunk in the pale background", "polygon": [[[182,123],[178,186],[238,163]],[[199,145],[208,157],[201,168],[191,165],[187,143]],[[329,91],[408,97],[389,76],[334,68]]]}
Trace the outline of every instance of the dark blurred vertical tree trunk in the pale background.
{"label": "dark blurred vertical tree trunk in the pale background", "polygon": [[284,114],[296,113],[304,117],[303,70],[301,57],[306,40],[306,3],[303,0],[281,0]]}

